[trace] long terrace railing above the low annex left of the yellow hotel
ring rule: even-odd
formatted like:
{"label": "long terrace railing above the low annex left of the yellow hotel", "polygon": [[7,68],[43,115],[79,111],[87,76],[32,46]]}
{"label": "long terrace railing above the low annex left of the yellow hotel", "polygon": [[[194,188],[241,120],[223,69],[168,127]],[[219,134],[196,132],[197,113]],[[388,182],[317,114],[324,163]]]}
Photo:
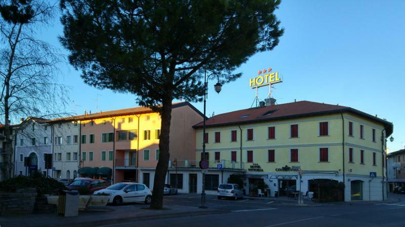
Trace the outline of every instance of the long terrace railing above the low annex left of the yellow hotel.
{"label": "long terrace railing above the low annex left of the yellow hotel", "polygon": [[[179,168],[184,167],[198,167],[199,168],[200,160],[177,160],[177,164],[174,160],[169,161],[169,168],[175,168],[176,165]],[[229,160],[208,160],[210,168],[217,168],[218,164],[222,164],[222,168],[231,168],[231,169],[243,169],[244,162],[236,162]]]}

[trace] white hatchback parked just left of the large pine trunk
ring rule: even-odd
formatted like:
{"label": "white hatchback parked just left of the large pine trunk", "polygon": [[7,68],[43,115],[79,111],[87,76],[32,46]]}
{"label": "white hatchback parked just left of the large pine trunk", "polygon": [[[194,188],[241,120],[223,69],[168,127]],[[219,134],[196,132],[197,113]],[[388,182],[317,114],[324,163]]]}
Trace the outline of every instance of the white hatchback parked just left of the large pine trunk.
{"label": "white hatchback parked just left of the large pine trunk", "polygon": [[94,195],[109,195],[108,203],[115,205],[129,202],[144,202],[149,204],[152,201],[152,192],[146,185],[139,183],[122,182],[111,185],[105,189],[96,191]]}

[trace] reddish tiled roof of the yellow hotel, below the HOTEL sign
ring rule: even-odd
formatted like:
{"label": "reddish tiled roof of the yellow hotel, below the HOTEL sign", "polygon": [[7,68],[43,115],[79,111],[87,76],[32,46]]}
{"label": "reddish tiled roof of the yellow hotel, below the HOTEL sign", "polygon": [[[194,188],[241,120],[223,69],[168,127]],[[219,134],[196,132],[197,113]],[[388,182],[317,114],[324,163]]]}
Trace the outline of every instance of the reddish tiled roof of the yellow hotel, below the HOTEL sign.
{"label": "reddish tiled roof of the yellow hotel, below the HOTEL sign", "polygon": [[[206,121],[206,127],[248,124],[252,122],[298,118],[336,112],[356,113],[357,115],[366,117],[368,119],[380,122],[383,125],[385,125],[387,127],[387,135],[390,135],[392,133],[393,128],[392,123],[371,116],[368,113],[361,112],[359,110],[347,106],[331,105],[311,101],[297,101],[285,104],[255,107],[222,113],[220,115],[208,119]],[[203,127],[203,122],[198,123],[197,125],[194,126],[194,128],[201,128],[201,127]]]}

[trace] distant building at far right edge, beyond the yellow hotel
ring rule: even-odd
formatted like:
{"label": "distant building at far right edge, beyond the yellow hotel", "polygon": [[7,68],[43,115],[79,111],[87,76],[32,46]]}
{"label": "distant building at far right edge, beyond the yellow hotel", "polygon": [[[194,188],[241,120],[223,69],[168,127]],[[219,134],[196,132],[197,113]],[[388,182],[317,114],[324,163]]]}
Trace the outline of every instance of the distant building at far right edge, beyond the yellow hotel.
{"label": "distant building at far right edge, beyond the yellow hotel", "polygon": [[395,186],[405,187],[405,149],[387,154],[387,177],[390,192]]}

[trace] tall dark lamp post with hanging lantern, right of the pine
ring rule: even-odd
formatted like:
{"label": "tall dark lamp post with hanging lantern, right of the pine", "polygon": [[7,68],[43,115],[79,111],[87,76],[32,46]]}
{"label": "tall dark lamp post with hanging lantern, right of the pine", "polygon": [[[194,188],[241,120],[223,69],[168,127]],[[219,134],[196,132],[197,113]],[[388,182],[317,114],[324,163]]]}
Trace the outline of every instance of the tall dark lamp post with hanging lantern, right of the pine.
{"label": "tall dark lamp post with hanging lantern, right of the pine", "polygon": [[[206,99],[208,96],[208,79],[210,78],[211,75],[215,73],[212,73],[208,75],[207,77],[207,71],[204,72],[204,120],[203,120],[203,159],[206,158]],[[222,84],[219,83],[219,77],[217,75],[218,82],[214,85],[215,91],[219,94],[222,90]],[[201,205],[199,208],[208,208],[206,206],[206,185],[205,185],[205,180],[206,180],[206,175],[203,173],[203,190],[201,191]]]}

